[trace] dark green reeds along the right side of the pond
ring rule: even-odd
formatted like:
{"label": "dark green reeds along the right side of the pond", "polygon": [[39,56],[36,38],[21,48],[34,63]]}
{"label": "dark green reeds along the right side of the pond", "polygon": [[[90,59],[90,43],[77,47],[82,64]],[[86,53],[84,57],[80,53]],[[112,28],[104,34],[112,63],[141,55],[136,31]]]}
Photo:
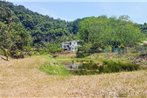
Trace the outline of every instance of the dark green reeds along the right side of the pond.
{"label": "dark green reeds along the right side of the pond", "polygon": [[121,71],[134,71],[139,69],[139,65],[132,63],[114,62],[112,60],[103,61],[103,65],[90,61],[81,64],[78,70],[72,71],[72,74],[77,75],[92,75],[100,73],[113,73]]}

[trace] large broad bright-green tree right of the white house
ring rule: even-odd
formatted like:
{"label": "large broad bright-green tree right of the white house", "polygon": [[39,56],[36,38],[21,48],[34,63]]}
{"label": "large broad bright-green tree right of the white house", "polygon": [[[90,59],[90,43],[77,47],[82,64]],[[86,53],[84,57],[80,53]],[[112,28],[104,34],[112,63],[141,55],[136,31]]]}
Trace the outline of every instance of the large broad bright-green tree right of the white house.
{"label": "large broad bright-green tree right of the white house", "polygon": [[99,16],[87,17],[80,22],[79,38],[84,42],[78,50],[80,57],[95,52],[124,52],[125,47],[133,47],[144,40],[145,34],[128,16]]}

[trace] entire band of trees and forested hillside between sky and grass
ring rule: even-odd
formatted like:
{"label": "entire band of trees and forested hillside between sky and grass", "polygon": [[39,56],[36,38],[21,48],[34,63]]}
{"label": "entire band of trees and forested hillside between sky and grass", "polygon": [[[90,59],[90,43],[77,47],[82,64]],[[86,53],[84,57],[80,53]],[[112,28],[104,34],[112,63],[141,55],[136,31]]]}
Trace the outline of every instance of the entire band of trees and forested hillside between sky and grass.
{"label": "entire band of trees and forested hillside between sky and grass", "polygon": [[68,22],[0,1],[0,33],[4,55],[24,57],[33,52],[61,51],[60,43],[73,39],[83,41],[81,49],[88,52],[132,46],[143,39],[143,33],[147,34],[147,25],[133,23],[125,16],[87,17]]}

